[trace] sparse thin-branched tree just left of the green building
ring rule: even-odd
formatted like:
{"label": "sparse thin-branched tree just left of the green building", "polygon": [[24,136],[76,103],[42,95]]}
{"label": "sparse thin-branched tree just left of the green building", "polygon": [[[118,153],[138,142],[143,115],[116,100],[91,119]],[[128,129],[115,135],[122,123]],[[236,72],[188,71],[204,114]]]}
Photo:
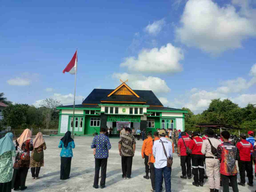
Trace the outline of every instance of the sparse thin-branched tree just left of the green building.
{"label": "sparse thin-branched tree just left of the green building", "polygon": [[44,117],[46,129],[49,129],[52,121],[56,121],[56,119],[58,119],[58,115],[54,115],[54,112],[56,111],[56,107],[60,106],[60,101],[49,98],[43,100],[40,106],[43,108],[42,114]]}

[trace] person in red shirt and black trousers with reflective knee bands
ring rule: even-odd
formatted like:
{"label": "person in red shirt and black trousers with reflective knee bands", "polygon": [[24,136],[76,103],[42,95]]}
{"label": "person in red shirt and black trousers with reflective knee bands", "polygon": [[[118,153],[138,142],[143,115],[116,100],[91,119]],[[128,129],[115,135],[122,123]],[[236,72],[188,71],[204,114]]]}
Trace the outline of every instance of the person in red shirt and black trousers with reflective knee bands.
{"label": "person in red shirt and black trousers with reflective knee bands", "polygon": [[[198,132],[193,132],[193,140],[191,140],[188,148],[192,150],[192,173],[194,175],[194,186],[204,186],[204,155],[202,154],[203,140],[199,137]],[[199,172],[199,177],[198,177]]]}

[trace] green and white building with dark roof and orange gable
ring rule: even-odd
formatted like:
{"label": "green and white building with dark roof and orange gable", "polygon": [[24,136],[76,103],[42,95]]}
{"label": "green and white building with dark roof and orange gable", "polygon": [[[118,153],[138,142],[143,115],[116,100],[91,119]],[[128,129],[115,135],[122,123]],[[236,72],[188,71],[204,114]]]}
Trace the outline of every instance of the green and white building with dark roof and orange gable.
{"label": "green and white building with dark roof and orange gable", "polygon": [[58,133],[68,130],[74,134],[99,133],[100,128],[113,128],[117,134],[122,127],[156,131],[157,128],[184,130],[187,111],[164,107],[152,91],[132,90],[125,82],[115,90],[94,89],[82,104],[61,106]]}

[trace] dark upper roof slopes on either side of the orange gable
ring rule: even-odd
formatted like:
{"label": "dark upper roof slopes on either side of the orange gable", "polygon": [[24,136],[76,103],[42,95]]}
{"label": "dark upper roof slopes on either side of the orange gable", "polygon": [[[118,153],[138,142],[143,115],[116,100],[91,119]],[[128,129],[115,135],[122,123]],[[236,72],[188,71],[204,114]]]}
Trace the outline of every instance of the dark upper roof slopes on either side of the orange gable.
{"label": "dark upper roof slopes on either side of the orange gable", "polygon": [[[112,93],[114,89],[94,89],[92,92],[86,97],[86,99],[82,102],[82,104],[100,104],[103,98],[106,98],[110,93]],[[140,98],[146,101],[147,105],[150,106],[163,106],[160,100],[156,97],[156,95],[152,91],[148,90],[133,90]],[[124,96],[128,98],[128,95],[111,95],[111,96],[118,96],[117,99],[121,99]],[[110,98],[111,98],[110,96]],[[135,99],[135,98],[129,98]],[[142,101],[140,100],[140,101]]]}

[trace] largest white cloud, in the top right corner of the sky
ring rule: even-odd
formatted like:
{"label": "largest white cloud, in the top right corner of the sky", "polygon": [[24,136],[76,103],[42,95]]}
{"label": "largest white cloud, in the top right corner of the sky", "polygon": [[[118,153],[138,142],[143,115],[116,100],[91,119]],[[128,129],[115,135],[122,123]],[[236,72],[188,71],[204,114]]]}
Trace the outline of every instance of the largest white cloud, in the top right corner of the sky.
{"label": "largest white cloud, in the top right corner of the sky", "polygon": [[212,0],[189,0],[176,38],[212,54],[241,48],[244,39],[256,37],[256,18],[251,9],[244,10],[238,12],[232,4],[220,7]]}

